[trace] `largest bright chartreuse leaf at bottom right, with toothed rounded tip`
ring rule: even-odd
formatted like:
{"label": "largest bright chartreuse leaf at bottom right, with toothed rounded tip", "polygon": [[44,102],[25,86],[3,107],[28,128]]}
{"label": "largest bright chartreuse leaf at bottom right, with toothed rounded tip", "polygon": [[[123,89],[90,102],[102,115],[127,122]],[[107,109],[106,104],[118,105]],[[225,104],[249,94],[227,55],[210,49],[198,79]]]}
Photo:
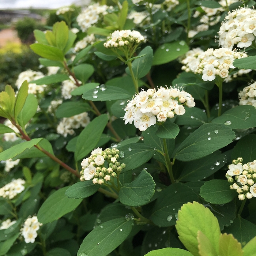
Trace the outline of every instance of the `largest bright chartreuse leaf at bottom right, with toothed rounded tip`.
{"label": "largest bright chartreuse leaf at bottom right, with toothed rounded tip", "polygon": [[201,231],[208,238],[215,251],[219,252],[219,236],[221,234],[219,223],[212,212],[203,204],[198,202],[184,204],[178,211],[176,229],[180,241],[194,256],[199,256],[198,231]]}

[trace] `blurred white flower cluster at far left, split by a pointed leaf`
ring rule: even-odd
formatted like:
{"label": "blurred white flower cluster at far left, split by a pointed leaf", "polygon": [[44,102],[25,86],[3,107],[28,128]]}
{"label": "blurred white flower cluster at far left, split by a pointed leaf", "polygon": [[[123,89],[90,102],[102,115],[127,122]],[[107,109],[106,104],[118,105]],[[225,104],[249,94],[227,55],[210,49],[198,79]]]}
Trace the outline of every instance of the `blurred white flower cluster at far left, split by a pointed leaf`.
{"label": "blurred white flower cluster at far left, split by a pointed leaf", "polygon": [[[40,78],[43,78],[45,75],[42,72],[39,71],[33,71],[31,69],[28,69],[26,71],[23,71],[19,74],[18,79],[16,80],[15,85],[20,89],[20,86],[22,83],[27,80],[29,83],[30,81],[37,80]],[[30,83],[29,84],[29,93],[32,94],[37,94],[37,93],[42,93],[47,85],[37,85],[35,83]]]}

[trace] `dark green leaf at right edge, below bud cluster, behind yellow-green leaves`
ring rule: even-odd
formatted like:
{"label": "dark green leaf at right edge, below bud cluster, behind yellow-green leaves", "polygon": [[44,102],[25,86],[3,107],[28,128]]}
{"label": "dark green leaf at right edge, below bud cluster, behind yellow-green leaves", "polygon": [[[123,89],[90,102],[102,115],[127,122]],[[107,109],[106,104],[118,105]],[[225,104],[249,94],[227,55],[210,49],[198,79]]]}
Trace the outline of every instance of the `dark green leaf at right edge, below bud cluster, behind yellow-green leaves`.
{"label": "dark green leaf at right edge, below bud cluster, behind yellow-green leaves", "polygon": [[[245,246],[252,238],[256,236],[256,225],[239,215],[229,227],[225,227],[226,233],[231,233],[233,236]],[[253,256],[253,255],[250,255]]]}

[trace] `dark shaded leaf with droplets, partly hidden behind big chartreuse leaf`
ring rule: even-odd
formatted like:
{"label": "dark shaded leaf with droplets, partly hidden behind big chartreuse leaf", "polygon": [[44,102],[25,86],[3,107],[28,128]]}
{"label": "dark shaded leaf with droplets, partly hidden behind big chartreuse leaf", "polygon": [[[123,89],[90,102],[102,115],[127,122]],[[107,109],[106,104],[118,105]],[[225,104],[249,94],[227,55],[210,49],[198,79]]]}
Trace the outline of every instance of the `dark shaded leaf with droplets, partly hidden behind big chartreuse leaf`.
{"label": "dark shaded leaf with droplets, partly hidden behind big chartreuse leaf", "polygon": [[[172,196],[166,196],[172,195]],[[157,201],[150,219],[157,226],[168,227],[175,225],[178,209],[182,204],[199,200],[192,188],[174,183],[158,193]]]}

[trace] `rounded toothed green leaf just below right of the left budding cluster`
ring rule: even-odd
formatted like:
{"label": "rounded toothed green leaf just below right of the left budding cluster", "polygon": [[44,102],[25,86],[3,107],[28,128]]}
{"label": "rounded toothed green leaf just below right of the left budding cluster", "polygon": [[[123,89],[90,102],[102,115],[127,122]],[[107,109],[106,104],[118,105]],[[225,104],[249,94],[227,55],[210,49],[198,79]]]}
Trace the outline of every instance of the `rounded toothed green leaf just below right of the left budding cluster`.
{"label": "rounded toothed green leaf just below right of the left budding cluster", "polygon": [[146,170],[142,170],[134,181],[121,187],[118,198],[120,203],[127,206],[143,206],[150,202],[155,193],[154,188],[153,177]]}

